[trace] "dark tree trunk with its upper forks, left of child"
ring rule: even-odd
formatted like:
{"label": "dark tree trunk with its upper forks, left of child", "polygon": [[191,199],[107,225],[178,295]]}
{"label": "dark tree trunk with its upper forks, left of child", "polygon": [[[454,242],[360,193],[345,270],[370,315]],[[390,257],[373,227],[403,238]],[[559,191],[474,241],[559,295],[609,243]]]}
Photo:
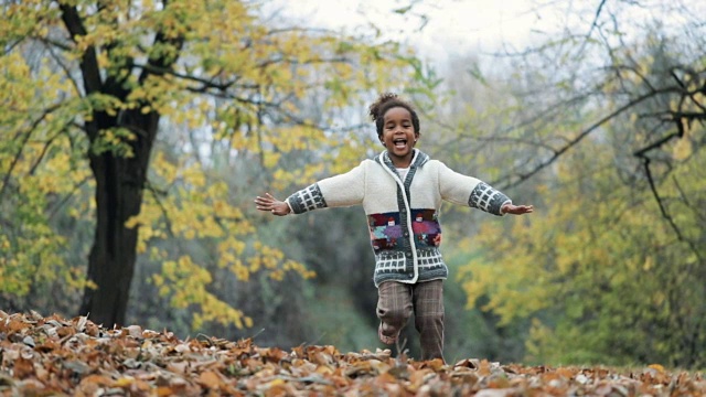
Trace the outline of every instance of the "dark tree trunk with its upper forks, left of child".
{"label": "dark tree trunk with its upper forks, left of child", "polygon": [[[60,2],[62,20],[71,37],[87,34],[76,6]],[[113,21],[116,25],[117,20]],[[176,62],[183,46],[183,36],[173,36],[158,31],[153,45],[168,45],[171,51],[148,58],[142,67],[139,84],[145,84],[148,76],[162,76]],[[108,73],[100,69],[98,51],[106,55],[124,43],[114,42],[103,47],[89,46],[81,57],[81,72],[85,95],[106,94],[125,101],[129,96],[126,76],[132,69],[132,60],[126,58],[126,75]],[[108,56],[110,57],[110,56]],[[104,77],[105,75],[105,77]],[[148,104],[138,104],[148,105]],[[127,158],[109,151],[88,153],[90,169],[96,179],[96,234],[88,256],[88,279],[98,286],[86,288],[81,305],[81,313],[88,314],[90,320],[105,326],[125,323],[128,294],[132,273],[135,272],[138,229],[127,229],[125,222],[140,213],[142,191],[147,180],[150,152],[157,135],[160,115],[150,111],[142,114],[142,106],[133,110],[125,110],[110,116],[103,109],[94,111],[93,120],[85,125],[86,135],[92,143],[99,139],[101,130],[109,128],[127,128],[136,135],[131,141],[133,157]],[[114,109],[115,110],[115,109]]]}

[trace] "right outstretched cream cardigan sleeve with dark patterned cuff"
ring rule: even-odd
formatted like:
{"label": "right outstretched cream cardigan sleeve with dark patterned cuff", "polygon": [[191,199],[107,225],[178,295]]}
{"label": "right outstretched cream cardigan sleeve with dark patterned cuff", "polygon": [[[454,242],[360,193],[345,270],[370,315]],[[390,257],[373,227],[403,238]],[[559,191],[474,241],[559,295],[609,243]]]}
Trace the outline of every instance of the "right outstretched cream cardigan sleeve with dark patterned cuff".
{"label": "right outstretched cream cardigan sleeve with dark patterned cuff", "polygon": [[468,205],[493,215],[503,215],[501,208],[512,201],[488,183],[452,171],[446,164],[439,167],[441,198],[454,204]]}

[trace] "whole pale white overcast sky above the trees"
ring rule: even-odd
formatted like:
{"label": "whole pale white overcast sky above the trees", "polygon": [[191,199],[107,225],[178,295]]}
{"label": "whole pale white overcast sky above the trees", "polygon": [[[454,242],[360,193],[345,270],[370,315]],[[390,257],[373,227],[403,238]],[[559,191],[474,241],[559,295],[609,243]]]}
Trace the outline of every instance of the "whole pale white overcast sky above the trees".
{"label": "whole pale white overcast sky above the trees", "polygon": [[[417,3],[405,15],[395,9]],[[518,50],[546,39],[545,34],[570,29],[585,34],[591,26],[600,0],[272,0],[281,17],[300,19],[309,26],[347,29],[357,33],[370,31],[374,23],[385,36],[415,45],[422,58],[445,63],[449,56],[493,53],[501,44]],[[606,2],[613,11],[623,8],[623,18],[632,23],[661,19],[675,29],[706,14],[706,0],[641,0]],[[670,12],[668,8],[682,8]],[[684,10],[688,10],[684,12]],[[577,12],[580,11],[580,12]],[[606,11],[606,10],[603,10]],[[420,29],[421,19],[428,23]],[[606,12],[603,12],[603,15]],[[567,20],[567,17],[573,19]],[[698,22],[698,21],[697,21]],[[621,24],[621,29],[630,24]],[[362,26],[362,28],[361,28]]]}

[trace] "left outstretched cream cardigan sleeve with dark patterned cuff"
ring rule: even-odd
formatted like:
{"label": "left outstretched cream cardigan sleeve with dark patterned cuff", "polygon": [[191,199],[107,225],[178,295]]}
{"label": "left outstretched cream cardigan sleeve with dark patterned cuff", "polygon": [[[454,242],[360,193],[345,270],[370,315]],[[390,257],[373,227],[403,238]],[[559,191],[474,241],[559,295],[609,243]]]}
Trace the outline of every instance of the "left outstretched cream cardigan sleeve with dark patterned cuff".
{"label": "left outstretched cream cardigan sleeve with dark patterned cuff", "polygon": [[351,171],[323,179],[287,197],[292,213],[361,204],[365,194],[365,169],[361,163]]}

